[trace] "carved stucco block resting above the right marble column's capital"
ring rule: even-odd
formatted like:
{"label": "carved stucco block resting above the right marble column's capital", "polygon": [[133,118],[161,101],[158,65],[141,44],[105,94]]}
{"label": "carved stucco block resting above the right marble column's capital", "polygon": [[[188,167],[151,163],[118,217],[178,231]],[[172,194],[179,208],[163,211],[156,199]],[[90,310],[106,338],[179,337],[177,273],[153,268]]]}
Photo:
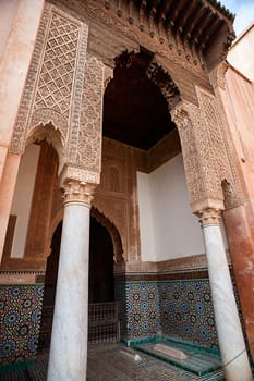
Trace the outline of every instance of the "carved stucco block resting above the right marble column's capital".
{"label": "carved stucco block resting above the right marble column's capital", "polygon": [[[227,207],[238,204],[216,99],[198,88],[197,98],[199,107],[184,101],[171,112],[181,138],[193,212],[210,207],[223,209],[225,204]],[[227,202],[221,185],[225,180],[231,184],[230,200],[227,199]]]}

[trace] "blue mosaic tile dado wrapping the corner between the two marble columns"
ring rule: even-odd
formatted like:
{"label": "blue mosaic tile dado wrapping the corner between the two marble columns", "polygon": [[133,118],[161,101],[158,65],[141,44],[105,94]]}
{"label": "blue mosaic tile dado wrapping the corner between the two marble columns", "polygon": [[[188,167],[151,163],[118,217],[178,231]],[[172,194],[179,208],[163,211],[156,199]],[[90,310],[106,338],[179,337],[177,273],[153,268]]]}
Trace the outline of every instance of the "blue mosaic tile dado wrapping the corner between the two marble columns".
{"label": "blue mosaic tile dado wrapping the corner between the two marble columns", "polygon": [[[120,300],[122,339],[164,334],[218,348],[207,279],[128,281],[118,288],[125,290]],[[116,294],[120,294],[118,290]]]}

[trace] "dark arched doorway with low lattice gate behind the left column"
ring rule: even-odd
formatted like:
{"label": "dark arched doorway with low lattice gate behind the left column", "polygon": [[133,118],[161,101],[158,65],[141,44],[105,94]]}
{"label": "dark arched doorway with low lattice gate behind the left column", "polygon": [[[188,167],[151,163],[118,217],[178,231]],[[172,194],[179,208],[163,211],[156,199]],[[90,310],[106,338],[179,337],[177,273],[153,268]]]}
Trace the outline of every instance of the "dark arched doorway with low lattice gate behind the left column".
{"label": "dark arched doorway with low lattice gate behind the left column", "polygon": [[[47,260],[39,334],[39,349],[50,346],[53,306],[60,256],[62,222],[53,233]],[[89,322],[88,341],[101,342],[118,336],[118,310],[114,303],[113,243],[106,226],[90,217],[89,236]],[[104,323],[98,316],[104,314]],[[110,322],[107,317],[110,315]],[[106,321],[106,324],[105,324]]]}

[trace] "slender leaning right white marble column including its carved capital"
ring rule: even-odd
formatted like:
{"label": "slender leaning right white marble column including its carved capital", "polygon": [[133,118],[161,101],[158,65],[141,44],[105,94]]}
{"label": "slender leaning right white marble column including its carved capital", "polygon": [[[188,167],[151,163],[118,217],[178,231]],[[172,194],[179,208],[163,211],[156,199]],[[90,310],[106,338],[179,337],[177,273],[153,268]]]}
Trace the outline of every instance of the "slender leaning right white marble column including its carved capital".
{"label": "slender leaning right white marble column including its carved capital", "polygon": [[227,381],[251,381],[252,372],[220,231],[220,210],[199,212],[219,348]]}

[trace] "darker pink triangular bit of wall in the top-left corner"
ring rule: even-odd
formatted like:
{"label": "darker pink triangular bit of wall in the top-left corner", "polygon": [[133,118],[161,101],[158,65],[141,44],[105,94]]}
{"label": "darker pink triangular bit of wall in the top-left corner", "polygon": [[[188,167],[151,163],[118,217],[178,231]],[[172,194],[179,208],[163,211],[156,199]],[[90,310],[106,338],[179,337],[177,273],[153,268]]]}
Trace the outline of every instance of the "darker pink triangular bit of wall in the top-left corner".
{"label": "darker pink triangular bit of wall in the top-left corner", "polygon": [[0,0],[0,60],[4,50],[20,0]]}

